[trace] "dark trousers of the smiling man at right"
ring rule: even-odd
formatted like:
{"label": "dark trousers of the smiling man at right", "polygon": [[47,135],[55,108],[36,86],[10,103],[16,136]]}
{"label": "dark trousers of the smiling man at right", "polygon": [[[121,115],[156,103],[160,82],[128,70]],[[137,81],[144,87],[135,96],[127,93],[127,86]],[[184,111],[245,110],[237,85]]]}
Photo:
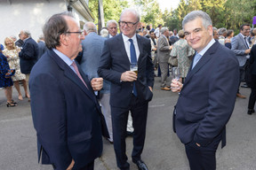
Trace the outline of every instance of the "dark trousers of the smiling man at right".
{"label": "dark trousers of the smiling man at right", "polygon": [[194,141],[185,144],[190,170],[215,170],[215,153],[222,138],[218,135],[212,143],[206,147],[198,147]]}

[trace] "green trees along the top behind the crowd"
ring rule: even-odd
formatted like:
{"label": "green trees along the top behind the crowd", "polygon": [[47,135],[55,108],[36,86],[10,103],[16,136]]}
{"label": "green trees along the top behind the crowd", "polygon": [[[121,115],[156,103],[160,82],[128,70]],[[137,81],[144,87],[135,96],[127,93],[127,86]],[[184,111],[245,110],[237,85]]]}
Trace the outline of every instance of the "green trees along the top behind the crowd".
{"label": "green trees along the top behind the crowd", "polygon": [[[249,23],[252,25],[252,17],[256,15],[256,0],[180,0],[177,9],[162,12],[157,0],[103,0],[105,21],[119,19],[125,7],[129,7],[128,1],[135,4],[141,14],[141,22],[157,27],[181,29],[182,19],[194,10],[207,12],[213,27],[226,27],[239,32],[240,25]],[[90,0],[89,8],[98,23],[98,0]]]}

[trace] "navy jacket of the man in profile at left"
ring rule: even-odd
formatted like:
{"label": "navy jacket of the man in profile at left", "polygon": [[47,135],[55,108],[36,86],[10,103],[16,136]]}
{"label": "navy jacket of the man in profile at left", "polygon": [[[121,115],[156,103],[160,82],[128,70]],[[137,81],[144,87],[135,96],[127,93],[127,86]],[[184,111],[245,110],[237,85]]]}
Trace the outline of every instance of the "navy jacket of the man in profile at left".
{"label": "navy jacket of the man in profile at left", "polygon": [[73,169],[80,169],[100,157],[101,130],[108,136],[91,83],[78,69],[89,89],[52,50],[44,53],[30,74],[38,159],[42,152],[42,163],[53,164],[57,170],[67,169],[72,158]]}

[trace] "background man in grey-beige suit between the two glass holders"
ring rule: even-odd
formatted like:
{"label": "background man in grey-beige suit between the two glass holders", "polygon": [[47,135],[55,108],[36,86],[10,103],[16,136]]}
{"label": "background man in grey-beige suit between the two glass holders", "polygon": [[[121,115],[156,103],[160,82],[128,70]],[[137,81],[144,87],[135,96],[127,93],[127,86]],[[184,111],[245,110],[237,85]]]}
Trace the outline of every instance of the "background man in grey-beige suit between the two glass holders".
{"label": "background man in grey-beige suit between the two glass holders", "polygon": [[161,69],[161,89],[162,90],[171,90],[169,85],[166,85],[167,73],[169,71],[168,59],[170,58],[170,52],[172,46],[169,45],[168,35],[169,29],[167,27],[162,27],[161,35],[158,38],[157,42],[157,57],[159,59],[159,66]]}

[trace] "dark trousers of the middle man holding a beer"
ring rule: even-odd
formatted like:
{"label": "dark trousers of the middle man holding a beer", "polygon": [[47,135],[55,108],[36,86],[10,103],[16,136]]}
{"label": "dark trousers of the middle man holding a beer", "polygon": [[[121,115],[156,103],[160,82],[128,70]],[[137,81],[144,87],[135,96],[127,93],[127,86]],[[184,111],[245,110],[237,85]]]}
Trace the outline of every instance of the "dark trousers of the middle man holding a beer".
{"label": "dark trousers of the middle man holding a beer", "polygon": [[125,137],[129,111],[132,113],[132,127],[134,128],[132,161],[135,163],[140,160],[140,155],[144,148],[148,102],[141,103],[137,97],[132,95],[131,104],[128,108],[111,106],[114,149],[116,163],[120,169],[129,169],[130,167],[125,154]]}

